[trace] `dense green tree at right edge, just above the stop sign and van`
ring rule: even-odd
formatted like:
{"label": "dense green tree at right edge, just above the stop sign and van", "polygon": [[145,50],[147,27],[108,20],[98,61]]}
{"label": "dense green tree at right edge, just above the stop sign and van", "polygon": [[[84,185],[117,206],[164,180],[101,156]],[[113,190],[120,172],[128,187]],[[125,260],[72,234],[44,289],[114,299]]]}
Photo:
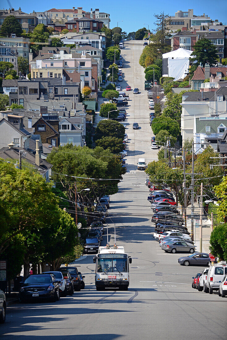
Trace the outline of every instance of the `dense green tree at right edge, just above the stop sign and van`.
{"label": "dense green tree at right edge, just above the stop sign and van", "polygon": [[227,224],[219,224],[214,227],[210,235],[210,252],[219,260],[227,261]]}

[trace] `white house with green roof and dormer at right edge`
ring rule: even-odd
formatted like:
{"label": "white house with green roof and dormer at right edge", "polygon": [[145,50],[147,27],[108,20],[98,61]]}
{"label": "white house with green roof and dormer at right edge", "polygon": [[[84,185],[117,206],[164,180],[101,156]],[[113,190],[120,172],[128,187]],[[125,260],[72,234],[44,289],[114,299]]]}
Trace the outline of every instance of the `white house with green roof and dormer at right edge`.
{"label": "white house with green roof and dormer at right edge", "polygon": [[217,151],[218,140],[222,139],[227,131],[227,117],[195,117],[194,143],[195,153],[202,152],[210,145]]}

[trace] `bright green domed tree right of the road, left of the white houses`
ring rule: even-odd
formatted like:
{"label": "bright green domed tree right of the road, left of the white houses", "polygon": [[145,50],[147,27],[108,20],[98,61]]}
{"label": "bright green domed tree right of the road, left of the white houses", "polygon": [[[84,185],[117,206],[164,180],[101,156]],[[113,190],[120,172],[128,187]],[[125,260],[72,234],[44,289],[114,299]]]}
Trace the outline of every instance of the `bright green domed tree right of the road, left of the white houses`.
{"label": "bright green domed tree right of the road, left of the white houses", "polygon": [[176,120],[163,116],[154,118],[151,128],[155,135],[157,135],[160,130],[167,130],[170,135],[177,137],[180,132],[180,126]]}

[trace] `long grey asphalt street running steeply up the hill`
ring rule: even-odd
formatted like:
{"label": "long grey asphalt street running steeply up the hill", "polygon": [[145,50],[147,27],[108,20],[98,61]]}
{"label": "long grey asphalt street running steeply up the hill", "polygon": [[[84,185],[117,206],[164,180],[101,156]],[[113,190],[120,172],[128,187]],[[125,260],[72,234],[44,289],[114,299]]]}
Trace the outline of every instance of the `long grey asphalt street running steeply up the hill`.
{"label": "long grey asphalt street running steeply up the hill", "polygon": [[[2,339],[226,339],[227,298],[192,289],[192,276],[202,267],[182,267],[181,254],[168,254],[152,238],[151,209],[147,201],[145,173],[136,170],[139,157],[147,163],[157,159],[150,149],[152,131],[144,73],[139,66],[142,41],[128,42],[122,50],[125,60],[124,85],[139,87],[130,93],[127,109],[127,168],[119,192],[111,196],[110,244],[114,223],[118,245],[132,257],[128,291],[96,291],[93,255],[76,262],[85,275],[85,289],[56,303],[14,304],[7,309],[0,326]],[[138,122],[141,129],[132,130]],[[107,242],[103,237],[103,245]],[[79,267],[80,266],[80,267]]]}

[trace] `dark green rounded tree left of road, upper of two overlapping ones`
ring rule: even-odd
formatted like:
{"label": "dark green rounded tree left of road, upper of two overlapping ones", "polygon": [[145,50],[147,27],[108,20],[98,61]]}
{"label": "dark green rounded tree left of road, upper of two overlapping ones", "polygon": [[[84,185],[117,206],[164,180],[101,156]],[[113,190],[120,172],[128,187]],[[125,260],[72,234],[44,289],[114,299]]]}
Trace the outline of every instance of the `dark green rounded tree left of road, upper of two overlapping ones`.
{"label": "dark green rounded tree left of road, upper of two overlapping ones", "polygon": [[103,137],[116,137],[124,138],[125,128],[122,124],[115,120],[101,120],[97,124],[97,128],[95,129],[94,140],[100,139]]}

